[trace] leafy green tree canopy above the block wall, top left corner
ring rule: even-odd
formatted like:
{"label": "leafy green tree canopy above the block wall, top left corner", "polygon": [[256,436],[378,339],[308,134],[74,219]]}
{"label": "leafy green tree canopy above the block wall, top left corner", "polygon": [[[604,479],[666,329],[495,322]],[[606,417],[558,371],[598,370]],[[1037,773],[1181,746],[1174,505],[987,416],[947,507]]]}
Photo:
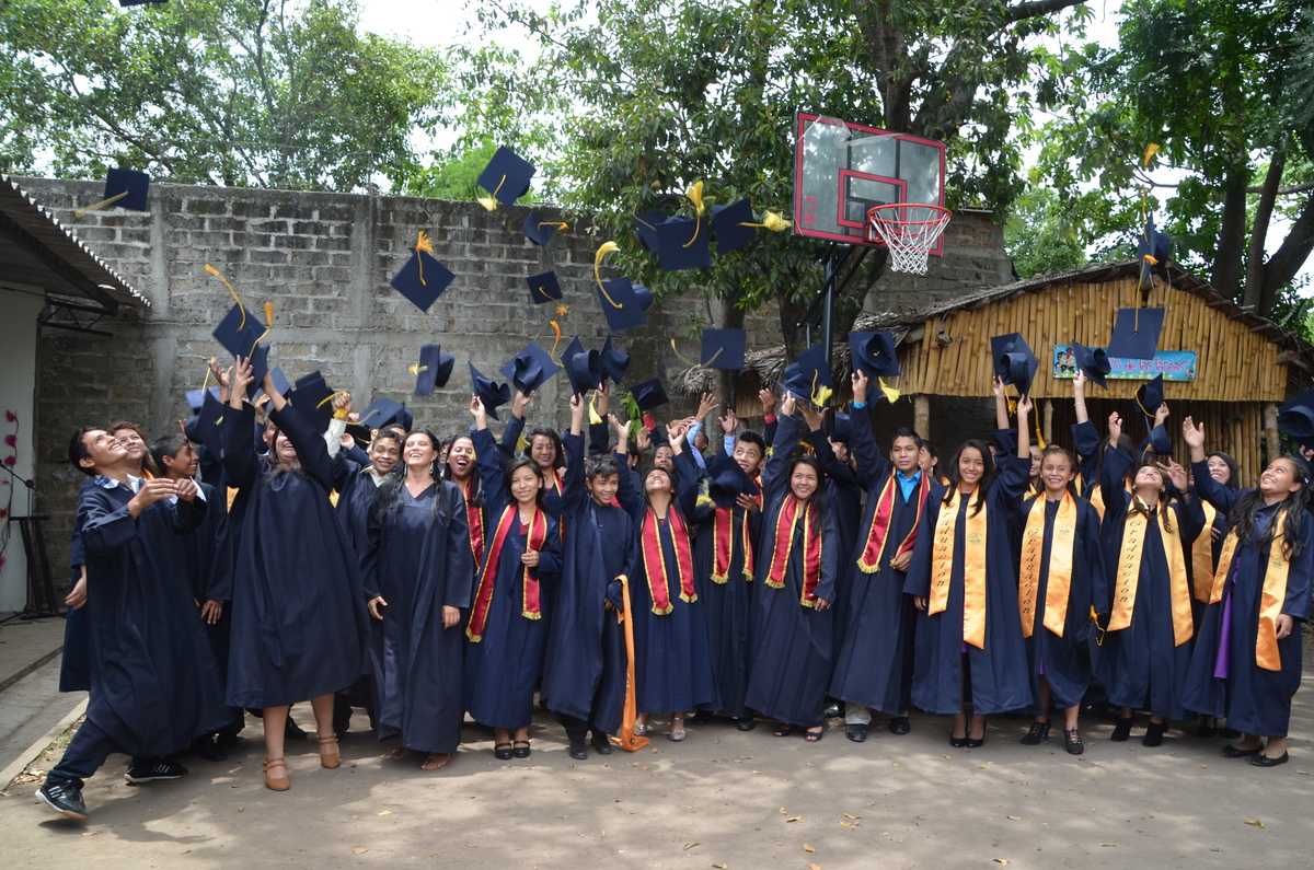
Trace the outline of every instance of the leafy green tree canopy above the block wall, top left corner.
{"label": "leafy green tree canopy above the block wall, top left corner", "polygon": [[355,191],[419,170],[443,55],[360,33],[356,0],[7,0],[0,166]]}

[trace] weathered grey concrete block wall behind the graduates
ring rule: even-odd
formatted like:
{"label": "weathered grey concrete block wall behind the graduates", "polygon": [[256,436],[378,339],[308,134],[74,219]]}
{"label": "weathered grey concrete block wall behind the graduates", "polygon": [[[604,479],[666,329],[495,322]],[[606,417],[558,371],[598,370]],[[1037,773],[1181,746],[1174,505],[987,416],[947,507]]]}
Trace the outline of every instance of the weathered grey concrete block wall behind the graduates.
{"label": "weathered grey concrete block wall behind the graduates", "polygon": [[[151,301],[150,309],[122,309],[102,321],[99,327],[112,339],[49,327],[39,336],[37,510],[54,518],[49,541],[55,565],[67,553],[83,480],[67,463],[72,432],[118,418],[139,422],[151,438],[172,431],[189,413],[184,392],[201,385],[206,360],[226,359],[210,331],[233,297],[206,264],[223,273],[252,311],[263,315],[264,302],[273,304],[271,360],[292,380],[319,369],[334,388],[350,389],[357,407],[377,396],[406,401],[417,424],[439,434],[463,431],[470,422],[466,360],[498,377],[497,369],[528,340],[552,346],[552,319],[561,322],[566,339],[579,334],[587,347],[600,347],[607,332],[593,290],[593,258],[602,239],[586,222],[572,221],[570,231],[540,248],[519,233],[527,208],[489,213],[476,202],[172,184],[152,185],[148,212],[112,209],[75,219],[72,210],[100,198],[102,185],[20,183]],[[537,212],[558,218],[553,209]],[[955,252],[954,240],[967,235],[951,237],[943,265],[891,290],[890,300],[926,304],[1000,283],[993,277],[999,264],[989,264],[991,256],[1003,258],[1003,246],[979,247],[992,238],[987,229],[974,230],[967,252]],[[436,256],[456,275],[427,314],[389,285],[419,230],[431,234]],[[950,263],[954,268],[946,269]],[[526,277],[548,269],[561,281],[564,317],[552,305],[530,305]],[[992,277],[978,280],[986,273]],[[615,276],[603,268],[603,279]],[[968,277],[975,281],[970,288],[953,284]],[[869,308],[891,310],[883,294],[878,288]],[[622,334],[620,344],[632,355],[628,382],[683,369],[668,340],[674,336],[686,355],[694,352],[696,346],[681,336],[695,305],[707,302],[658,304],[646,327]],[[774,306],[752,314],[745,326],[749,350],[779,342]],[[455,354],[456,368],[445,389],[414,397],[409,367],[430,343]],[[549,381],[531,406],[531,421],[565,424],[566,390],[564,378]],[[691,407],[677,401],[664,410],[674,417]],[[63,577],[62,570],[55,574]]]}

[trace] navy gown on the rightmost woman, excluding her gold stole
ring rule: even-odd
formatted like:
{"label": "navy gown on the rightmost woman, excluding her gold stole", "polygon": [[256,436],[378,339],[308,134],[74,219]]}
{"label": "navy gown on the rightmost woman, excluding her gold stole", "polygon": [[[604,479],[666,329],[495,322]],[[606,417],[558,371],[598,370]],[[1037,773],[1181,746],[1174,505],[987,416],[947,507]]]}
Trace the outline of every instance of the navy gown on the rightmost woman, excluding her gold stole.
{"label": "navy gown on the rightmost woman, excluding her gold stole", "polygon": [[[1206,463],[1196,463],[1196,490],[1209,499],[1219,514],[1233,510],[1247,490],[1227,489],[1209,477]],[[1208,481],[1204,482],[1204,481]],[[1265,530],[1277,520],[1277,505],[1260,507],[1255,516],[1255,538],[1267,538]],[[1184,703],[1188,708],[1210,716],[1226,716],[1227,725],[1248,735],[1285,737],[1292,716],[1292,697],[1301,685],[1301,623],[1310,614],[1310,584],[1314,576],[1314,526],[1303,516],[1300,531],[1303,549],[1292,560],[1286,574],[1286,595],[1281,612],[1296,620],[1290,635],[1277,641],[1280,670],[1265,670],[1255,662],[1259,636],[1259,611],[1264,595],[1271,543],[1261,547],[1238,541],[1227,572],[1223,598],[1205,608],[1196,636],[1196,648],[1187,677]],[[1198,581],[1197,581],[1198,582]],[[1231,599],[1230,612],[1227,599]],[[1227,616],[1227,677],[1215,677],[1214,666]]]}

